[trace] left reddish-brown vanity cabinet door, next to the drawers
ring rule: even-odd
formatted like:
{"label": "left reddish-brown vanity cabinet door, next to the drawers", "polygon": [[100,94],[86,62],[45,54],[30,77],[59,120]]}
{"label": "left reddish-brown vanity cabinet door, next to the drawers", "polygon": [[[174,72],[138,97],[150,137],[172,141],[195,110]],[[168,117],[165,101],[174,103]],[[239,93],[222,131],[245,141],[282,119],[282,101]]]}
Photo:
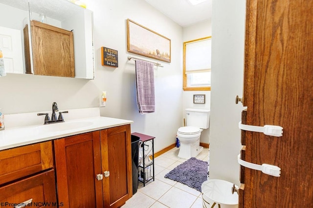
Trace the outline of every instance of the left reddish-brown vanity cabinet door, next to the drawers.
{"label": "left reddish-brown vanity cabinet door, next to the drawers", "polygon": [[102,208],[100,132],[54,141],[58,200],[69,208]]}

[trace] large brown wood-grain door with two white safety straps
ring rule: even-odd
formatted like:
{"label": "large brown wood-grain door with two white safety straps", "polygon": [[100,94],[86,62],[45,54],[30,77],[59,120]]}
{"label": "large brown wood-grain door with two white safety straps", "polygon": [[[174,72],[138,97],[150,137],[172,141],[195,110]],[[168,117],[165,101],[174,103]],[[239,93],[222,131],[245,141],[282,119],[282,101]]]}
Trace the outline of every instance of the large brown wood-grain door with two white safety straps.
{"label": "large brown wood-grain door with two white safety straps", "polygon": [[247,0],[243,119],[284,130],[243,132],[243,159],[281,175],[244,168],[240,207],[313,206],[312,34],[313,0]]}

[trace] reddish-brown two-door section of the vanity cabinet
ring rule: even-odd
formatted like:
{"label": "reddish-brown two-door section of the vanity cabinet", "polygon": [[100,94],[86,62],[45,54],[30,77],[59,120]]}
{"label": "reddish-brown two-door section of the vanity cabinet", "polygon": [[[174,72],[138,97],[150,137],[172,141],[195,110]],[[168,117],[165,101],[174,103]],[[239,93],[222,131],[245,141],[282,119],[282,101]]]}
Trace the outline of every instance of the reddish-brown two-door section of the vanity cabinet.
{"label": "reddish-brown two-door section of the vanity cabinet", "polygon": [[130,125],[57,139],[54,149],[65,207],[117,208],[132,196]]}

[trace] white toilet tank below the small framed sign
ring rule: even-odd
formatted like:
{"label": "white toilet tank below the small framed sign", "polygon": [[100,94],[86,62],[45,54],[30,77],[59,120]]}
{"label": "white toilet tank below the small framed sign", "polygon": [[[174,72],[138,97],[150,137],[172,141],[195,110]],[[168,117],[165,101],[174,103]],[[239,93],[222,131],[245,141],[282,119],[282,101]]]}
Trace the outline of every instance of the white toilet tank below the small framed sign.
{"label": "white toilet tank below the small framed sign", "polygon": [[187,108],[185,111],[187,126],[199,127],[200,129],[209,128],[210,110]]}

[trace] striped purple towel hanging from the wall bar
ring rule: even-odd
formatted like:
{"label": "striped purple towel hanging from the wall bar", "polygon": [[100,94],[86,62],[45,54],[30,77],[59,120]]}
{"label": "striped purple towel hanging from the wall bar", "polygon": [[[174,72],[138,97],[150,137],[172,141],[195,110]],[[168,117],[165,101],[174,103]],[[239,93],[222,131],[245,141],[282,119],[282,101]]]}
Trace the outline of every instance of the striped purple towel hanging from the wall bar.
{"label": "striped purple towel hanging from the wall bar", "polygon": [[155,112],[155,79],[153,63],[135,60],[136,95],[139,113]]}

